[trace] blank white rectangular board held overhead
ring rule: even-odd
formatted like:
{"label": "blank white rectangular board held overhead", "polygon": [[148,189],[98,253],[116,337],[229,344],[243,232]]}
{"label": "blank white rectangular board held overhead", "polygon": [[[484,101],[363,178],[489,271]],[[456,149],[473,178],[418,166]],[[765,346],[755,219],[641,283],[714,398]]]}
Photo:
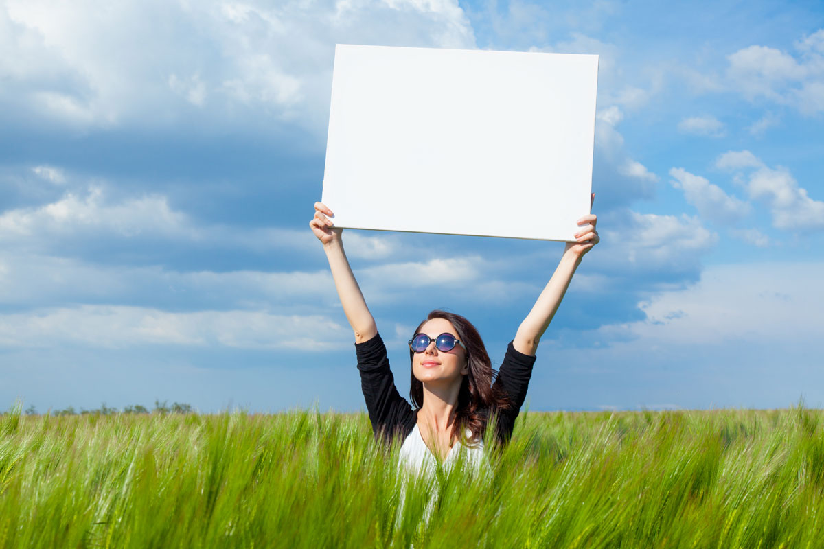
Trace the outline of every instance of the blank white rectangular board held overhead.
{"label": "blank white rectangular board held overhead", "polygon": [[597,55],[338,44],[323,197],[335,225],[574,240]]}

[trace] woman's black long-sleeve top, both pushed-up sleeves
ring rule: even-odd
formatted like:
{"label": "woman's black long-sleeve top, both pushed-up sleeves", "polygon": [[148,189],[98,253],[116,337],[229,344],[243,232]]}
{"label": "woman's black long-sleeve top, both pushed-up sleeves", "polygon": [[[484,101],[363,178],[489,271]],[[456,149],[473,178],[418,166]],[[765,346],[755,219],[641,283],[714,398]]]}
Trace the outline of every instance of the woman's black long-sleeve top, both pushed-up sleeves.
{"label": "woman's black long-sleeve top, both pushed-up sleeves", "polygon": [[[400,436],[401,440],[405,440],[418,421],[418,410],[414,410],[398,393],[381,335],[376,334],[367,342],[356,343],[355,350],[358,353],[363,398],[366,399],[369,420],[372,421],[375,436],[382,437],[387,442],[393,436]],[[524,398],[527,397],[534,364],[535,356],[516,351],[513,343],[509,342],[507,354],[503,358],[494,385],[506,393],[510,407],[480,411],[486,416],[489,416],[490,412],[497,415],[496,435],[502,443],[508,442],[512,436],[515,418],[521,411]]]}

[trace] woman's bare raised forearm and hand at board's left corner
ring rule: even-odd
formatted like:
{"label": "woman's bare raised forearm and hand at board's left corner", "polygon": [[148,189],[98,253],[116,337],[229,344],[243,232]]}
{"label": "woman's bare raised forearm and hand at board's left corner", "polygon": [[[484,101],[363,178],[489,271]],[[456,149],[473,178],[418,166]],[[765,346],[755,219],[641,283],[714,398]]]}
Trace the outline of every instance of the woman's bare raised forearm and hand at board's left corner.
{"label": "woman's bare raised forearm and hand at board's left corner", "polygon": [[355,342],[363,343],[377,333],[377,325],[372,313],[363,299],[358,281],[349,267],[349,259],[344,252],[343,229],[338,229],[327,216],[335,214],[323,202],[315,202],[315,216],[309,221],[309,226],[318,240],[321,240],[335,287],[338,290],[340,305],[344,306],[346,319],[355,333]]}

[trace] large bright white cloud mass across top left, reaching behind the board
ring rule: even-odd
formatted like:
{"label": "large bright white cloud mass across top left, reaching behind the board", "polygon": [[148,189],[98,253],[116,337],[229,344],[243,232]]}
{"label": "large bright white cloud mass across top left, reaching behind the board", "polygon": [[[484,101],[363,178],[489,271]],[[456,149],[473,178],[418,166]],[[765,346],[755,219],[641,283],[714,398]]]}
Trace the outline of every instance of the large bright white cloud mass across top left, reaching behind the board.
{"label": "large bright white cloud mass across top left, reaching behind the board", "polygon": [[[473,49],[475,37],[456,0],[150,0],[105,10],[92,0],[9,0],[0,104],[82,127],[208,116],[293,119],[320,135],[335,43]],[[209,109],[187,114],[176,96]]]}

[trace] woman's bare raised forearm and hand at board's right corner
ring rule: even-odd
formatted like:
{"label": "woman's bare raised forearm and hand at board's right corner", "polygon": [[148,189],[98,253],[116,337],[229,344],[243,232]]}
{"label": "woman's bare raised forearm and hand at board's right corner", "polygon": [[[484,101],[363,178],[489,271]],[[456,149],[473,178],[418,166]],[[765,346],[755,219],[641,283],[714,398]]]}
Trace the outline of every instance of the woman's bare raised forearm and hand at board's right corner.
{"label": "woman's bare raised forearm and hand at board's right corner", "polygon": [[[592,198],[594,200],[594,194]],[[564,294],[566,294],[569,287],[569,282],[572,281],[575,269],[581,263],[583,255],[601,240],[598,231],[595,230],[596,222],[597,217],[592,214],[583,216],[578,220],[578,226],[581,228],[575,234],[577,241],[567,243],[564,255],[561,257],[558,267],[555,268],[550,281],[546,284],[541,295],[538,296],[535,305],[532,305],[532,310],[527,314],[527,318],[523,319],[523,322],[517,328],[515,340],[513,341],[513,347],[516,351],[535,356],[538,343],[541,342],[541,336],[549,327],[552,317],[555,316],[555,311],[558,310],[561,300],[564,299]]]}

